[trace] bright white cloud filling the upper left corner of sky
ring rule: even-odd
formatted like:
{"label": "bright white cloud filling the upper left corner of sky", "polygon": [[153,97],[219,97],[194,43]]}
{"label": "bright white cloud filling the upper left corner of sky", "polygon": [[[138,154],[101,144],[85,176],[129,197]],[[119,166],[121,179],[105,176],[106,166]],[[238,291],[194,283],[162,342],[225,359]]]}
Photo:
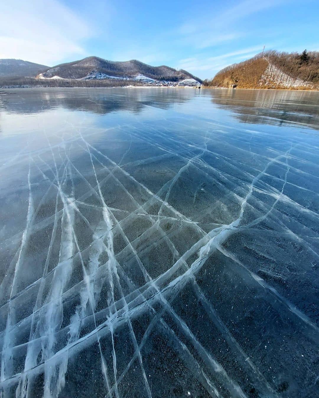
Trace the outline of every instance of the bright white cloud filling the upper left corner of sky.
{"label": "bright white cloud filling the upper left corner of sky", "polygon": [[81,43],[91,37],[88,23],[57,0],[3,2],[0,58],[53,66],[65,57],[85,56]]}

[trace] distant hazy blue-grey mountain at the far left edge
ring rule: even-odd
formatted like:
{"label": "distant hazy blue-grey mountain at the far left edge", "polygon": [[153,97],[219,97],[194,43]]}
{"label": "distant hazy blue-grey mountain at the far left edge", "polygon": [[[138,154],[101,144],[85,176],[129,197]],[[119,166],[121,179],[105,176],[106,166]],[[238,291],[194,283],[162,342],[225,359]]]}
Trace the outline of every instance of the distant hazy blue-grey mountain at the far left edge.
{"label": "distant hazy blue-grey mountain at the far left edge", "polygon": [[49,66],[23,61],[21,59],[0,59],[0,76],[33,77]]}

